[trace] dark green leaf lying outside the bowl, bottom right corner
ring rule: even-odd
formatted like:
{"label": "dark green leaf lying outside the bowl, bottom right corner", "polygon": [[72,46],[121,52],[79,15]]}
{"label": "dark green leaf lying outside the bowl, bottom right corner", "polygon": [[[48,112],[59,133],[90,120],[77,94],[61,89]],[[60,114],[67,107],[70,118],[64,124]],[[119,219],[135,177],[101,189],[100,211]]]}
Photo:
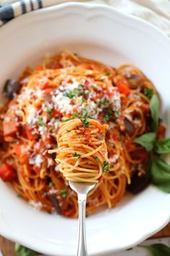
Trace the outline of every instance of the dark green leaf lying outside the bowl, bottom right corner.
{"label": "dark green leaf lying outside the bowl, bottom right corner", "polygon": [[149,246],[144,246],[148,249],[153,256],[169,256],[170,247],[167,247],[165,244],[152,244]]}

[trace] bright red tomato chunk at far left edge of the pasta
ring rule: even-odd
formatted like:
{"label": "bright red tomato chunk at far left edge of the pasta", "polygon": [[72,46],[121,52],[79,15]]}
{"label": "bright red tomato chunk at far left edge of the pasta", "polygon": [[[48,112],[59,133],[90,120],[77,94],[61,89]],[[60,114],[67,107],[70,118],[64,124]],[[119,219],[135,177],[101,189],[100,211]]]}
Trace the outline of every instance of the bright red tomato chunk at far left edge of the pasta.
{"label": "bright red tomato chunk at far left edge of the pasta", "polygon": [[12,182],[17,178],[17,171],[12,165],[3,163],[0,167],[0,177],[4,182]]}

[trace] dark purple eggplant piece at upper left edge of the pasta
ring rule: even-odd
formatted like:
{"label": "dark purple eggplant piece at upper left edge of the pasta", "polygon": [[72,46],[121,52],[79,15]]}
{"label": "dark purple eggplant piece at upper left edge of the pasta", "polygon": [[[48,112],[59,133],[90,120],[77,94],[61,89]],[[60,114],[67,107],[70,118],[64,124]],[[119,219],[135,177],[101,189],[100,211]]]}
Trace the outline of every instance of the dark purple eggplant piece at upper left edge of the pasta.
{"label": "dark purple eggplant piece at upper left edge of the pasta", "polygon": [[12,99],[14,98],[15,93],[19,93],[21,88],[21,83],[17,80],[7,80],[4,85],[3,94],[6,98]]}

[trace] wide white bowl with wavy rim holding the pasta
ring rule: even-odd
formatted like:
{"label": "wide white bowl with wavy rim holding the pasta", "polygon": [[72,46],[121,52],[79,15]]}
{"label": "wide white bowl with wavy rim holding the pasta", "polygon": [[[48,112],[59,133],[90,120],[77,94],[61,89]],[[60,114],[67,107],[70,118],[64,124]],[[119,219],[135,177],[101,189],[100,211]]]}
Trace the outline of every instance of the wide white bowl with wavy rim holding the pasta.
{"label": "wide white bowl with wavy rim holding the pasta", "polygon": [[[62,4],[24,14],[0,29],[1,90],[28,64],[69,48],[117,66],[131,62],[156,85],[169,125],[170,42],[153,26],[100,4]],[[0,92],[1,93],[1,92]],[[0,182],[0,233],[48,255],[75,255],[78,221],[33,210]],[[89,255],[138,244],[169,222],[170,195],[148,187],[86,219]]]}

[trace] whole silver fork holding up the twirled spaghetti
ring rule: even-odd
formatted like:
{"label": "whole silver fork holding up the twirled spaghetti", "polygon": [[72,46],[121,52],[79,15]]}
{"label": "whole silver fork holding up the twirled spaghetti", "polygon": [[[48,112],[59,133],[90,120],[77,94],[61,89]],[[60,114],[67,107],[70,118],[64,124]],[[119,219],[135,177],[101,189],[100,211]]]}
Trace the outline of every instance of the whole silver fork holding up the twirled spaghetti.
{"label": "whole silver fork holding up the twirled spaghetti", "polygon": [[79,243],[76,256],[87,256],[86,250],[86,196],[94,189],[95,184],[69,182],[69,185],[73,191],[78,195],[79,203]]}

